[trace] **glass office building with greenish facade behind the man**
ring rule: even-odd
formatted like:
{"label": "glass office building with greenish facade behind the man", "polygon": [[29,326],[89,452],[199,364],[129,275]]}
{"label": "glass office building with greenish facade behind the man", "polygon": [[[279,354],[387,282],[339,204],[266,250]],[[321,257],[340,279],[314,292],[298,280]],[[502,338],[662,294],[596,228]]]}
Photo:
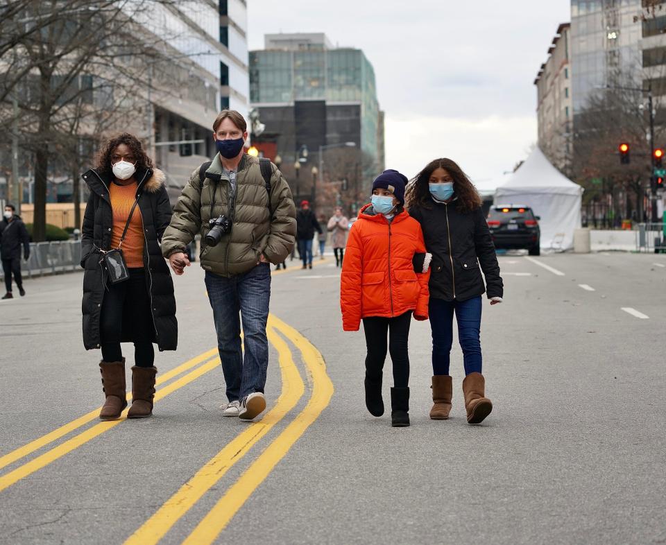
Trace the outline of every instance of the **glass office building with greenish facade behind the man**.
{"label": "glass office building with greenish facade behind the man", "polygon": [[384,166],[375,71],[359,49],[334,49],[323,34],[267,35],[266,49],[250,51],[250,104],[283,164],[304,145],[353,141],[368,175]]}

